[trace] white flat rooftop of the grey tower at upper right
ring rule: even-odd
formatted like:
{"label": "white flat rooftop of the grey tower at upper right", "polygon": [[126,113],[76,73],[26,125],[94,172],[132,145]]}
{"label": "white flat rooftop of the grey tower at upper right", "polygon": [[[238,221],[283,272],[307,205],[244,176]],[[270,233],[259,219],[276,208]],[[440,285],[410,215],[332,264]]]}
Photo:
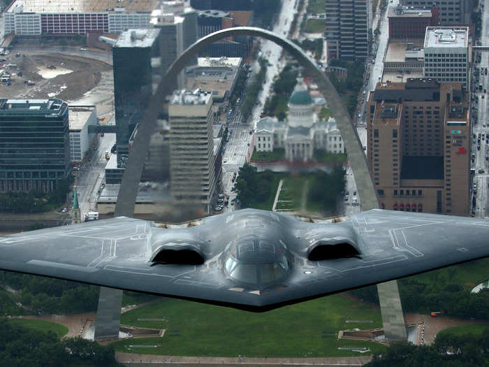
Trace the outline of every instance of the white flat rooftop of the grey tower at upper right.
{"label": "white flat rooftop of the grey tower at upper right", "polygon": [[426,27],[425,48],[467,48],[469,27]]}

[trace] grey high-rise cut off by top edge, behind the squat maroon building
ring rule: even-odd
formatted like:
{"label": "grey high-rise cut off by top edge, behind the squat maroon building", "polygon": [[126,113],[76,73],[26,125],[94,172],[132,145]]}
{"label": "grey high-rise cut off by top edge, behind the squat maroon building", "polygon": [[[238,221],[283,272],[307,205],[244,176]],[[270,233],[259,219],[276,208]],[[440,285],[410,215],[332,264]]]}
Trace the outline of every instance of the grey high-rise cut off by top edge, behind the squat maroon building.
{"label": "grey high-rise cut off by top edge, behind the squat maroon building", "polygon": [[417,8],[430,9],[433,3],[437,4],[439,9],[439,21],[441,25],[448,24],[469,24],[470,9],[469,0],[402,0],[404,6],[416,6]]}

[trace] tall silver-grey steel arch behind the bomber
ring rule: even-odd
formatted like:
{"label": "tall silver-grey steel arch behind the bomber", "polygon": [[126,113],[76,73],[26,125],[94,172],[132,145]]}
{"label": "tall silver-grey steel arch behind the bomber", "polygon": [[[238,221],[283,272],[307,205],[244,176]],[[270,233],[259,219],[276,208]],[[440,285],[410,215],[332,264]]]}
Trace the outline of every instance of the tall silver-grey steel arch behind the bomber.
{"label": "tall silver-grey steel arch behind the bomber", "polygon": [[[357,192],[360,198],[361,210],[379,208],[377,194],[374,189],[372,178],[367,166],[367,159],[363,152],[356,129],[353,127],[351,117],[344,108],[344,105],[337,94],[335,87],[330,82],[316,63],[295,43],[279,36],[271,31],[254,27],[235,27],[223,29],[213,34],[200,38],[196,43],[185,50],[178,57],[166,72],[161,80],[156,92],[153,94],[149,106],[143,118],[143,122],[138,127],[138,134],[131,147],[129,159],[126,164],[122,185],[117,196],[115,207],[115,217],[132,217],[138,192],[138,183],[143,172],[143,163],[147,156],[147,147],[156,128],[156,119],[161,111],[162,101],[173,92],[176,85],[177,75],[184,67],[196,57],[200,50],[223,38],[230,36],[254,36],[265,38],[281,46],[284,50],[295,57],[300,65],[305,69],[305,73],[310,75],[318,85],[319,90],[328,101],[328,108],[335,117],[338,129],[342,134],[344,146],[348,153],[353,175],[356,180]],[[400,296],[397,290],[397,282],[381,283],[377,285],[379,301],[381,305],[381,315],[384,324],[384,332],[388,340],[406,340],[406,329]],[[101,287],[98,301],[97,319],[95,324],[95,338],[113,338],[118,336],[120,305],[122,301],[122,291]]]}

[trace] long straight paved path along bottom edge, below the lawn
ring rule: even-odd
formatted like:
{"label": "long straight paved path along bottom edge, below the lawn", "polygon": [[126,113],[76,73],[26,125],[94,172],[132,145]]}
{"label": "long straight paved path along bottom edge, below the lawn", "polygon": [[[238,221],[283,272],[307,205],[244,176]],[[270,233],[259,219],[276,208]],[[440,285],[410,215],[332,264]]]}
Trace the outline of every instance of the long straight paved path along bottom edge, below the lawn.
{"label": "long straight paved path along bottom edge, below the lawn", "polygon": [[244,357],[180,357],[116,352],[124,366],[363,366],[372,359],[361,357],[323,358],[244,358]]}

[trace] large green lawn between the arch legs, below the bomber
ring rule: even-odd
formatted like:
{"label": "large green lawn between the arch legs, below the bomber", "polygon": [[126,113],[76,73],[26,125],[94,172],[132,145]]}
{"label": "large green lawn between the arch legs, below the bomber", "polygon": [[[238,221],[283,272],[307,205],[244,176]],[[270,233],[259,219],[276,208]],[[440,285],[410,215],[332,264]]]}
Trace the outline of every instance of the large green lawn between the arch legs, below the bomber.
{"label": "large green lawn between the arch legs, below the bomber", "polygon": [[[163,318],[165,322],[141,322],[138,318]],[[372,324],[347,324],[347,319],[372,320]],[[137,349],[145,354],[236,357],[356,356],[337,347],[384,345],[358,340],[338,340],[342,329],[371,329],[381,326],[375,310],[342,295],[251,313],[214,305],[166,298],[122,314],[122,324],[166,329],[163,338],[119,340],[116,350],[130,352],[128,345],[158,345]]]}

